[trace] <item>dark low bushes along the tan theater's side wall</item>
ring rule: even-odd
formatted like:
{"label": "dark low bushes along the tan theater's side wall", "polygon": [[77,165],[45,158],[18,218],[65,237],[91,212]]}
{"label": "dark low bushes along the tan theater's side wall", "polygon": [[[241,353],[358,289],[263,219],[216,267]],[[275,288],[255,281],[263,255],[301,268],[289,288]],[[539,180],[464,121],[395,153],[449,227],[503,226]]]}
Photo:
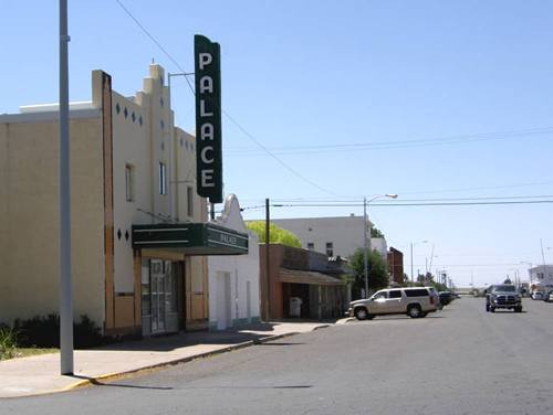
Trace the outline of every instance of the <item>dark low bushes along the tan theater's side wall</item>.
{"label": "dark low bushes along the tan theater's side wall", "polygon": [[[51,313],[29,320],[15,320],[17,340],[21,348],[59,348],[60,317]],[[84,349],[105,344],[111,341],[100,333],[100,328],[85,315],[73,323],[74,348]]]}

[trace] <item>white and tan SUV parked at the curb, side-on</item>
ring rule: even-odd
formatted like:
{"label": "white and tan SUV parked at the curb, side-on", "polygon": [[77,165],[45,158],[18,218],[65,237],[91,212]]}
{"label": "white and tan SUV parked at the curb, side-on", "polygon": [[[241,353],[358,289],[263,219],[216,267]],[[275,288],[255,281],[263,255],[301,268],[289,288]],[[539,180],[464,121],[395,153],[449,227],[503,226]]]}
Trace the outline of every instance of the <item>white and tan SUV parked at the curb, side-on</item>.
{"label": "white and tan SUV parked at the curb, side-on", "polygon": [[349,302],[349,316],[357,320],[383,315],[426,317],[438,309],[438,300],[430,287],[389,288],[375,292],[371,298]]}

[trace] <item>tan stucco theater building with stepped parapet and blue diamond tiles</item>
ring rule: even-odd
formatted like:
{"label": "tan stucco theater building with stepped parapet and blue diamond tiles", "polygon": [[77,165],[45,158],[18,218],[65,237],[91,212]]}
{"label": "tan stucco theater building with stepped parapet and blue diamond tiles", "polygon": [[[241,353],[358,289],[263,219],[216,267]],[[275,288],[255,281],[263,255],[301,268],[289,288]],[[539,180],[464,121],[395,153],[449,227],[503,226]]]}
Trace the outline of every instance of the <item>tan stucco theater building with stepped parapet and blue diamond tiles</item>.
{"label": "tan stucco theater building with stepped parapet and blue diamond tiles", "polygon": [[[205,255],[240,253],[206,224],[195,137],[166,84],[150,65],[125,97],[94,71],[92,100],[70,105],[74,315],[107,334],[207,328]],[[0,116],[1,322],[58,312],[58,105]]]}

